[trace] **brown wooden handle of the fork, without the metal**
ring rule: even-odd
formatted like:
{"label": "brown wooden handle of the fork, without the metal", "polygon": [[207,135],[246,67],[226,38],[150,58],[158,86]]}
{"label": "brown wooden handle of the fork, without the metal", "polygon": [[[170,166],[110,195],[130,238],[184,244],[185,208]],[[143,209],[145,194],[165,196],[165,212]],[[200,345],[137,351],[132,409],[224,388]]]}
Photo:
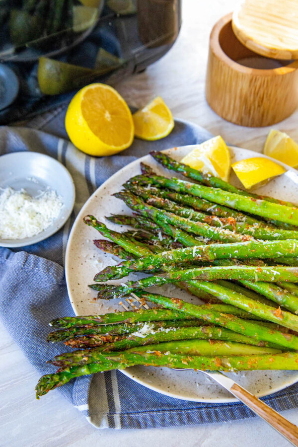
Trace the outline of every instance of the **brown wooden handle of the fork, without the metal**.
{"label": "brown wooden handle of the fork, without the metal", "polygon": [[241,400],[254,413],[263,418],[275,430],[283,435],[294,446],[298,447],[298,427],[270,408],[246,389],[235,383],[230,392]]}

